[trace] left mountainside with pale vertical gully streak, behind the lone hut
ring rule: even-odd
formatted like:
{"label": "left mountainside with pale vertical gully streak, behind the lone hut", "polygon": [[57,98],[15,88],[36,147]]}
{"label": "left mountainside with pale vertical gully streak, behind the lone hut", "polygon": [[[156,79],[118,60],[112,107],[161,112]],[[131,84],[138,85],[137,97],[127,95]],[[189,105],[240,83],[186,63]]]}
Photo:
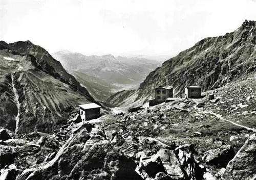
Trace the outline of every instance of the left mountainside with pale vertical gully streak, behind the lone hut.
{"label": "left mountainside with pale vertical gully streak, behind the lone hut", "polygon": [[89,101],[88,91],[43,48],[0,42],[0,126],[15,133],[51,132]]}

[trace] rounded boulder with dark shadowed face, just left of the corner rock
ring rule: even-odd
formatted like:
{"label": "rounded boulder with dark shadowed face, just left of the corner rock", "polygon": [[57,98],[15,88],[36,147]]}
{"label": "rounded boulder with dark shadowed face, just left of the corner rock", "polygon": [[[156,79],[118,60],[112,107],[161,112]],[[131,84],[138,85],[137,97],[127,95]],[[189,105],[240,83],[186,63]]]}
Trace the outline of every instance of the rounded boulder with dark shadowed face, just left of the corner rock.
{"label": "rounded boulder with dark shadowed face, just left of the corner rock", "polygon": [[234,150],[230,145],[222,145],[216,149],[210,149],[204,152],[202,160],[209,165],[226,167],[234,155]]}

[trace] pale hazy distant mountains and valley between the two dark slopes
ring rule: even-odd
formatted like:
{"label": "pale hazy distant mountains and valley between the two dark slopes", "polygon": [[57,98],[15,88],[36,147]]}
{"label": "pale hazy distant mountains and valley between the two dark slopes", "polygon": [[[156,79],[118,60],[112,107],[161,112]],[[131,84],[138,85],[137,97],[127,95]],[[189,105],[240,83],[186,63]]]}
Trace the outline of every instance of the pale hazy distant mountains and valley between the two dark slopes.
{"label": "pale hazy distant mountains and valley between the two dark slopes", "polygon": [[86,56],[67,51],[53,56],[98,100],[119,90],[138,88],[146,75],[161,65],[159,61],[145,58]]}

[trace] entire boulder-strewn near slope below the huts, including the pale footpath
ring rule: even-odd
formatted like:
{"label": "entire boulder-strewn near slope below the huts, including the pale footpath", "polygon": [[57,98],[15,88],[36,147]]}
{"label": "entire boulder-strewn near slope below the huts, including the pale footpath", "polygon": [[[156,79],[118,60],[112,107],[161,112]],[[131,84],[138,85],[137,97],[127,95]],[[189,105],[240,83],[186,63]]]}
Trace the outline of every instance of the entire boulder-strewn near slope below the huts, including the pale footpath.
{"label": "entire boulder-strewn near slope below the huts, including the pale footpath", "polygon": [[254,75],[213,100],[177,98],[89,122],[74,114],[51,134],[2,128],[0,179],[255,179]]}

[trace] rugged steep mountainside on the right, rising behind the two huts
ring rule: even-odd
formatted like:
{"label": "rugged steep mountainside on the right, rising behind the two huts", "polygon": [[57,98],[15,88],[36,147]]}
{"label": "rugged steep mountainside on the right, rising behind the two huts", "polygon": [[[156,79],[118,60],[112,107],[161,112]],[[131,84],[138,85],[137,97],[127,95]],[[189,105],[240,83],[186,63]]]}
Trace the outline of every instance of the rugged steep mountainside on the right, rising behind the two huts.
{"label": "rugged steep mountainside on the right, rising behind the two huts", "polygon": [[205,91],[237,80],[256,70],[255,44],[256,21],[246,20],[234,32],[205,38],[148,74],[136,100],[146,100],[160,84],[174,86],[174,95],[182,96],[186,85],[201,85]]}

